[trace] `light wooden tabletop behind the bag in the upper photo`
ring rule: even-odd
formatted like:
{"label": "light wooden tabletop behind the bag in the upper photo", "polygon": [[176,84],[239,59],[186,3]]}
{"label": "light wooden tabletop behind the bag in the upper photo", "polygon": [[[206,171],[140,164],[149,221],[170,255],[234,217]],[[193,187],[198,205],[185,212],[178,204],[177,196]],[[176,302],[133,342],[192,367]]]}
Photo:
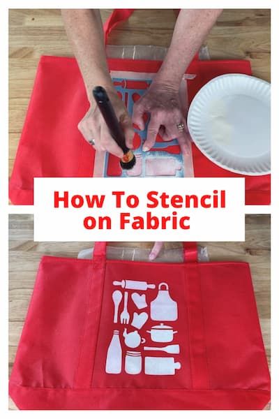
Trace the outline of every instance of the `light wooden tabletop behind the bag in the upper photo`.
{"label": "light wooden tabletop behind the bag in the upper photo", "polygon": [[[102,10],[105,20],[110,10]],[[110,36],[112,45],[162,45],[172,37],[173,10],[136,10]],[[250,59],[256,77],[270,80],[268,9],[227,9],[206,39],[213,59]],[[22,131],[38,59],[42,54],[71,56],[61,15],[54,9],[10,10],[9,172]]]}

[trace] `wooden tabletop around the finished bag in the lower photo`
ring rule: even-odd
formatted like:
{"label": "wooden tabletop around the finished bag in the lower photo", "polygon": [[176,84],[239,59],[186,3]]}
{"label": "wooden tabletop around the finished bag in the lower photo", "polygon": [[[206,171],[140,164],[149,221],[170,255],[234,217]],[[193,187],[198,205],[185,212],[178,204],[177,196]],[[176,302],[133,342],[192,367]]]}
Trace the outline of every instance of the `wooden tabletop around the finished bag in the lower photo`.
{"label": "wooden tabletop around the finished bag in the lower photo", "polygon": [[[31,297],[38,263],[43,255],[76,257],[90,247],[82,242],[33,242],[33,216],[10,215],[10,282],[9,282],[9,367],[13,366],[17,344]],[[262,326],[266,354],[270,361],[270,216],[246,216],[246,242],[203,243],[210,260],[239,260],[250,263],[257,309]],[[151,243],[113,243],[121,247],[148,247]],[[176,248],[177,243],[166,247]],[[10,400],[10,409],[16,409]]]}

